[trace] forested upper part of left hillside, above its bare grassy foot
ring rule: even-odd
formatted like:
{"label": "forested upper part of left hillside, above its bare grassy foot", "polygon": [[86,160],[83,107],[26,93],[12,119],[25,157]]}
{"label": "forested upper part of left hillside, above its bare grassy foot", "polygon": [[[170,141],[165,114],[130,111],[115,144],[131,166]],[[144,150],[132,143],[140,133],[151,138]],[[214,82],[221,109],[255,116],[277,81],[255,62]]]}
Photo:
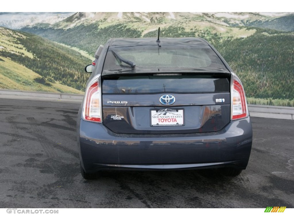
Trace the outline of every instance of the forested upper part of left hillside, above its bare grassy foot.
{"label": "forested upper part of left hillside, above its bare grassy foot", "polygon": [[[59,82],[83,90],[89,74],[84,67],[91,63],[86,57],[40,36],[1,28],[0,56],[9,58],[41,76],[36,82],[49,86]],[[3,61],[2,61],[3,62]]]}

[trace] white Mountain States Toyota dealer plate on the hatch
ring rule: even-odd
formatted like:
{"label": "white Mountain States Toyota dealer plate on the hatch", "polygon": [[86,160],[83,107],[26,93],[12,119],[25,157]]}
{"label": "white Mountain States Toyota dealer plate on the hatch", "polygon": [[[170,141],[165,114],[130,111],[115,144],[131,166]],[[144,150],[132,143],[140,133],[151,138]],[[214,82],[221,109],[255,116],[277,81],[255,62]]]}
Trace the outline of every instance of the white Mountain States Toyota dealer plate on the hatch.
{"label": "white Mountain States Toyota dealer plate on the hatch", "polygon": [[151,109],[151,126],[183,126],[184,109]]}

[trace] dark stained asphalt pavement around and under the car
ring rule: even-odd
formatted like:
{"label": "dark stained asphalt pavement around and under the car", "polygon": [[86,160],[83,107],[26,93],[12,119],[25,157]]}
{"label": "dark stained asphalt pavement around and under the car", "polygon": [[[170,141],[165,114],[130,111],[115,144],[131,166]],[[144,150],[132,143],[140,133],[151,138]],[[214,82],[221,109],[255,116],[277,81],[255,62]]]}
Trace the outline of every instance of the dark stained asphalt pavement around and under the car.
{"label": "dark stained asphalt pavement around and under the car", "polygon": [[246,170],[80,174],[79,103],[0,99],[0,208],[294,208],[294,121],[253,117]]}

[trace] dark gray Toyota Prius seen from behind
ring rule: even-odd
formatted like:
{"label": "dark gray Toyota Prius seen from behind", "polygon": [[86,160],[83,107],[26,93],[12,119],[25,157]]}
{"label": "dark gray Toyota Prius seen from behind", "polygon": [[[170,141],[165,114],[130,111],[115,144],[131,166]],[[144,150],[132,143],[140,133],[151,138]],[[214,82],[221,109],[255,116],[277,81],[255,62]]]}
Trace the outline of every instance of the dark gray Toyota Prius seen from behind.
{"label": "dark gray Toyota Prius seen from behind", "polygon": [[85,68],[81,174],[248,164],[252,127],[240,79],[201,38],[111,38]]}

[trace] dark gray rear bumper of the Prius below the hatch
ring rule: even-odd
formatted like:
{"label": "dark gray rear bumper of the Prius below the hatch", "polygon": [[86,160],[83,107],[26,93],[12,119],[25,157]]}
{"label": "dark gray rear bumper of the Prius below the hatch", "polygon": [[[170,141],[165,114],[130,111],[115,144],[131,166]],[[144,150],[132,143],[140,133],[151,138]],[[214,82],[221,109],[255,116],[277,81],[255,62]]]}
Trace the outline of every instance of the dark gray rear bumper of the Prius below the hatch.
{"label": "dark gray rear bumper of the Prius below the hatch", "polygon": [[78,148],[83,169],[245,169],[252,145],[250,117],[222,130],[190,134],[117,134],[103,124],[80,120]]}

